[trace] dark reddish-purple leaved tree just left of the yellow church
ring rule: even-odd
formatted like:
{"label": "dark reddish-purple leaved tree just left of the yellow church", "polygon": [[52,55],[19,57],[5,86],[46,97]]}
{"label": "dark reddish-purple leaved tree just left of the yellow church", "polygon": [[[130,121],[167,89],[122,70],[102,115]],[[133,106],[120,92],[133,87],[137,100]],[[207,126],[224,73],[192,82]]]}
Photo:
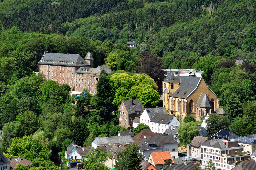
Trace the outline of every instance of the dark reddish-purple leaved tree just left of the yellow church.
{"label": "dark reddish-purple leaved tree just left of the yellow church", "polygon": [[145,73],[152,77],[158,86],[161,85],[161,82],[165,79],[163,60],[151,54],[151,51],[141,52],[139,57],[141,59],[138,61],[139,66],[135,67],[134,70],[138,73]]}

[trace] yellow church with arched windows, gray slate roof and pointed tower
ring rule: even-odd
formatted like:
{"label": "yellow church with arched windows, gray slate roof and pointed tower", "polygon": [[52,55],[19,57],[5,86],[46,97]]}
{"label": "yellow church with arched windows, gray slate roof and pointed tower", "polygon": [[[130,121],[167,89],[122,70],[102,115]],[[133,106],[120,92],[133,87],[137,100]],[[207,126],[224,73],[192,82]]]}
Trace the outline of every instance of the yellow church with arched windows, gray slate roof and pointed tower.
{"label": "yellow church with arched windows, gray slate roof and pointed tower", "polygon": [[[201,104],[208,101],[208,105]],[[175,77],[170,70],[163,81],[163,107],[166,107],[169,114],[179,116],[180,119],[193,115],[198,120],[211,110],[215,111],[219,107],[219,101],[202,77]]]}

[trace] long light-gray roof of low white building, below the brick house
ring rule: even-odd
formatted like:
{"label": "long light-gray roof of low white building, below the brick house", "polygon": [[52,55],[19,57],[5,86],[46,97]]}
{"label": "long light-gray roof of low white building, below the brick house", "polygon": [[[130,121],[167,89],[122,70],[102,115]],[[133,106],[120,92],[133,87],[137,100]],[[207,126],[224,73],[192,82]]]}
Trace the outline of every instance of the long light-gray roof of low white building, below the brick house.
{"label": "long light-gray roof of low white building, below the brick house", "polygon": [[96,137],[93,143],[97,145],[110,145],[120,143],[133,143],[134,140],[129,136],[110,136],[110,137]]}

